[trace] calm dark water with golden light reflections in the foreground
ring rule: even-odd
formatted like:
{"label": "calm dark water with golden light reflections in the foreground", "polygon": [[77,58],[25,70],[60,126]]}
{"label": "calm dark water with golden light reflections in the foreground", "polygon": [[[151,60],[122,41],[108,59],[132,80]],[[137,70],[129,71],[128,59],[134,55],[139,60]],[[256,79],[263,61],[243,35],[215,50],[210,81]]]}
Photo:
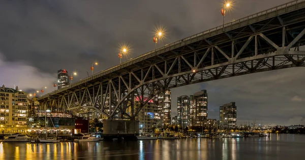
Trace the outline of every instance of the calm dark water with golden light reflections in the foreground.
{"label": "calm dark water with golden light reflections in the foreground", "polygon": [[29,144],[0,142],[2,159],[304,159],[305,135]]}

